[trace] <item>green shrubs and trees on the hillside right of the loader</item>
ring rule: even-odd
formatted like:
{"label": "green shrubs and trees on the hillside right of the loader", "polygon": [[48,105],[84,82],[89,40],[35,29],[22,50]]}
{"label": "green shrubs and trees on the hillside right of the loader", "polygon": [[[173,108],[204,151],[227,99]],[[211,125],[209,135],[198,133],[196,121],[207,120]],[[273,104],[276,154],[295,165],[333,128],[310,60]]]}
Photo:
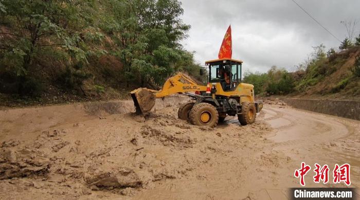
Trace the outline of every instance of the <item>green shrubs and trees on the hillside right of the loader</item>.
{"label": "green shrubs and trees on the hillside right of the loader", "polygon": [[[253,84],[255,94],[263,96],[290,93],[326,95],[341,91],[352,96],[358,95],[360,48],[348,46],[346,50],[340,52],[336,52],[334,48],[326,51],[322,44],[313,48],[311,56],[299,64],[294,72],[272,66],[266,73],[246,71],[243,81]],[[346,63],[353,59],[354,55],[356,56],[354,66],[347,67]],[[338,70],[340,72],[332,76]],[[329,79],[329,77],[334,78]]]}

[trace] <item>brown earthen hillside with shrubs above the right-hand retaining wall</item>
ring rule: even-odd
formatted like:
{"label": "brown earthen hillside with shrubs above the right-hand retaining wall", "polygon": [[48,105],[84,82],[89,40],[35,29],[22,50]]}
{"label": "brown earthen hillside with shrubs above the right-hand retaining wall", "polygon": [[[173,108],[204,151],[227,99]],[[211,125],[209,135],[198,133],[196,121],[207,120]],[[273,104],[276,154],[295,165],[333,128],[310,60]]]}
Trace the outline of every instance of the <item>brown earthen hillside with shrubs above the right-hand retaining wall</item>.
{"label": "brown earthen hillside with shrubs above the right-hand retaining wall", "polygon": [[302,98],[360,99],[360,78],[354,77],[351,71],[359,55],[360,47],[353,47],[320,62],[314,67],[315,73],[312,76],[304,74],[303,79],[300,80],[300,84],[308,82],[303,88],[299,88],[303,93],[294,94]]}

